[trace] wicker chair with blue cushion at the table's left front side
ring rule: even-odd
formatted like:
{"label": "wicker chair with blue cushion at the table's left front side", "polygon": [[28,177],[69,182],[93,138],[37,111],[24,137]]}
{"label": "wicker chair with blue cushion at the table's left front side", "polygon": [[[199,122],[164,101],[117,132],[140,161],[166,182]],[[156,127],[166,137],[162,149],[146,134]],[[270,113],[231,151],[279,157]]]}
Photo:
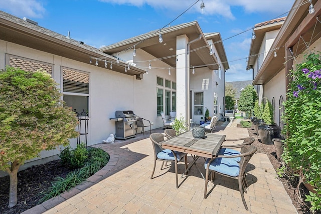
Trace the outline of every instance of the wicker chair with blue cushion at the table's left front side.
{"label": "wicker chair with blue cushion at the table's left front side", "polygon": [[154,149],[154,167],[151,172],[150,179],[152,179],[153,174],[155,172],[156,167],[156,160],[163,161],[161,170],[163,170],[163,166],[165,162],[173,162],[175,163],[175,176],[176,176],[176,188],[179,187],[178,184],[178,162],[181,161],[184,158],[185,162],[185,171],[187,170],[187,154],[177,151],[172,151],[170,149],[164,149],[162,148],[162,141],[165,140],[166,136],[164,134],[160,133],[152,133],[149,135],[149,138],[152,142],[152,147]]}

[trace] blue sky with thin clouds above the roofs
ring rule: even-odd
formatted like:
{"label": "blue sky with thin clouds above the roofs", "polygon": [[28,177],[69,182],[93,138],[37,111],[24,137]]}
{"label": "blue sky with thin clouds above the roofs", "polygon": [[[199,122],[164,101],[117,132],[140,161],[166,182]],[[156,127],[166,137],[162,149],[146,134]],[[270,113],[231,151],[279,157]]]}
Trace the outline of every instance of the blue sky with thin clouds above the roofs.
{"label": "blue sky with thin clouds above the roofs", "polygon": [[174,26],[197,20],[204,33],[220,32],[230,65],[226,81],[231,82],[252,79],[252,71],[245,70],[251,28],[286,16],[294,4],[294,0],[203,0],[205,9],[201,13],[200,0],[176,19],[195,2],[197,0],[0,0],[0,10],[34,20],[39,26],[62,35],[67,36],[70,31],[72,39],[96,48],[161,29],[171,22]]}

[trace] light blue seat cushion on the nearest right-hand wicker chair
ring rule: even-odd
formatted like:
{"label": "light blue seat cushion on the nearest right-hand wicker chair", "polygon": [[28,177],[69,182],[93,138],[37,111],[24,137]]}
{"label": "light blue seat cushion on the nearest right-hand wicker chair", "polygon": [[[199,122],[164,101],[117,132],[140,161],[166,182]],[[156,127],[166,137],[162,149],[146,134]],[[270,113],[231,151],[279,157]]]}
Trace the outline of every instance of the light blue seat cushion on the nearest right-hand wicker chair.
{"label": "light blue seat cushion on the nearest right-hand wicker chair", "polygon": [[[208,158],[205,161],[204,167],[207,168],[207,164],[211,159]],[[222,174],[229,175],[231,177],[237,177],[240,174],[240,165],[233,158],[216,158],[214,159],[209,167],[212,171],[217,171]]]}

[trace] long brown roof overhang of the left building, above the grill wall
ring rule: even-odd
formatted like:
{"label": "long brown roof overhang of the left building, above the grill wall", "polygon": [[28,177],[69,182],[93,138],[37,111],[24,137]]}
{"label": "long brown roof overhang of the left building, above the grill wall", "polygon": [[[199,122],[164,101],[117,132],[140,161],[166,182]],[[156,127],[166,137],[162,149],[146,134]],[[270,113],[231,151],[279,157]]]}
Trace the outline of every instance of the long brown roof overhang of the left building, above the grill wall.
{"label": "long brown roof overhang of the left building, above the grill wall", "polygon": [[[5,14],[4,12],[2,13]],[[20,19],[19,21],[25,22]],[[12,42],[87,64],[89,64],[90,57],[106,59],[109,62],[113,62],[112,71],[124,73],[124,65],[126,62],[117,64],[115,63],[116,59],[114,57],[104,54],[98,49],[80,44],[78,41],[72,39],[67,39],[62,35],[51,32],[42,27],[35,26],[32,29],[29,28],[28,25],[33,24],[26,23],[26,26],[24,26],[0,16],[0,40]],[[39,31],[35,29],[39,29]],[[59,37],[50,36],[47,34],[48,32],[59,35]],[[93,63],[94,62],[95,61],[93,61]],[[104,68],[104,63],[101,62],[98,66]],[[131,66],[130,70],[125,74],[133,76],[143,73],[145,73],[145,71]]]}

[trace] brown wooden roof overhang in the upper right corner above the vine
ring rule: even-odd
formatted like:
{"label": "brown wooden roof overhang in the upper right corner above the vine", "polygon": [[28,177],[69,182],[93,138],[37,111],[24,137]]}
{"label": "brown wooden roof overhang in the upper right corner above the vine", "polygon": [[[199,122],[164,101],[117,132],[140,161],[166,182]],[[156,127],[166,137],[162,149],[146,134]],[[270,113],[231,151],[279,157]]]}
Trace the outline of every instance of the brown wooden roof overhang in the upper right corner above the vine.
{"label": "brown wooden roof overhang in the upper right corner above the vine", "polygon": [[[293,4],[293,10],[289,12],[270,49],[275,50],[280,48],[277,50],[277,57],[273,56],[273,51],[270,51],[267,54],[255,79],[253,80],[253,85],[262,85],[267,83],[278,72],[285,68],[285,62],[290,60],[285,59],[285,48],[291,47],[293,54],[297,56],[306,50],[305,42],[312,44],[320,38],[320,35],[315,32],[321,31],[321,25],[317,24],[316,20],[316,17],[321,15],[321,2],[316,0],[312,1],[315,9],[314,14],[308,14],[309,4],[303,3],[304,0],[296,0]],[[300,6],[297,7],[298,5]],[[291,39],[293,35],[298,35],[299,38],[296,40]],[[289,40],[292,40],[292,44],[290,44],[290,46],[287,44]]]}

